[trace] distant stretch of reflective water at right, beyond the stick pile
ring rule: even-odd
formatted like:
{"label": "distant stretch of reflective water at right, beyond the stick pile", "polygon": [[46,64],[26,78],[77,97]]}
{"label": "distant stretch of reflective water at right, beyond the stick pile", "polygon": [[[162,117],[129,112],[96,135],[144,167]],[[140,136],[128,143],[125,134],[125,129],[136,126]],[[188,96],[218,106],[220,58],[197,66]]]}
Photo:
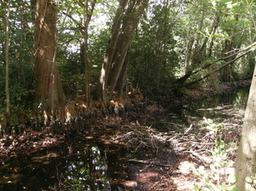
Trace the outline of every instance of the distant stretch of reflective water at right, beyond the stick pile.
{"label": "distant stretch of reflective water at right, beyond the stick pile", "polygon": [[250,87],[225,92],[185,106],[170,108],[165,115],[159,116],[152,125],[154,128],[168,132],[182,130],[190,124],[199,124],[203,118],[222,123],[225,119],[242,118],[247,105]]}

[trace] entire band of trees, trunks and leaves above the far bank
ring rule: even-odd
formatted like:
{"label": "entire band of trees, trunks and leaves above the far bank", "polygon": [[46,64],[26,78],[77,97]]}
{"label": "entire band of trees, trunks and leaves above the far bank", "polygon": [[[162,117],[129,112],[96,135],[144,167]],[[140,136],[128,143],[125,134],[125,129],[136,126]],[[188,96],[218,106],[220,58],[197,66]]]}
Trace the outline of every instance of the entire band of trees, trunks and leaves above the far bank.
{"label": "entire band of trees, trunks and leaves above the far bank", "polygon": [[252,78],[251,0],[43,2],[1,1],[2,109]]}

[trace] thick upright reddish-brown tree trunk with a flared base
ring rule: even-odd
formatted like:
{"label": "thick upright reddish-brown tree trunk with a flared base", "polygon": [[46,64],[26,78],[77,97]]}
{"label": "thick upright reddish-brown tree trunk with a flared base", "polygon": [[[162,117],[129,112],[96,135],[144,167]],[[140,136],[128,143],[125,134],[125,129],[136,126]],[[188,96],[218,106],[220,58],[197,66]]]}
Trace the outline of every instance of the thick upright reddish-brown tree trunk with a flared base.
{"label": "thick upright reddish-brown tree trunk with a flared base", "polygon": [[35,12],[35,77],[36,100],[54,107],[64,100],[61,78],[56,63],[56,5],[54,0],[36,2]]}

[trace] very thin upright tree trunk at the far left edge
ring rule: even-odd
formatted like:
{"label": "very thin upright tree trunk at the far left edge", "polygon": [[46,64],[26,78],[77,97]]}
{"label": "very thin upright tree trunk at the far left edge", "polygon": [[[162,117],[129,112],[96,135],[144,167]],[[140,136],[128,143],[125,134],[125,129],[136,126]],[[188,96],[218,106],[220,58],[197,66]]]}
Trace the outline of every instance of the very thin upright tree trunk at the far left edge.
{"label": "very thin upright tree trunk at the far left edge", "polygon": [[6,100],[6,114],[10,114],[10,103],[9,103],[9,9],[10,0],[7,4],[4,0],[1,1],[3,5],[3,25],[5,32],[5,100]]}

